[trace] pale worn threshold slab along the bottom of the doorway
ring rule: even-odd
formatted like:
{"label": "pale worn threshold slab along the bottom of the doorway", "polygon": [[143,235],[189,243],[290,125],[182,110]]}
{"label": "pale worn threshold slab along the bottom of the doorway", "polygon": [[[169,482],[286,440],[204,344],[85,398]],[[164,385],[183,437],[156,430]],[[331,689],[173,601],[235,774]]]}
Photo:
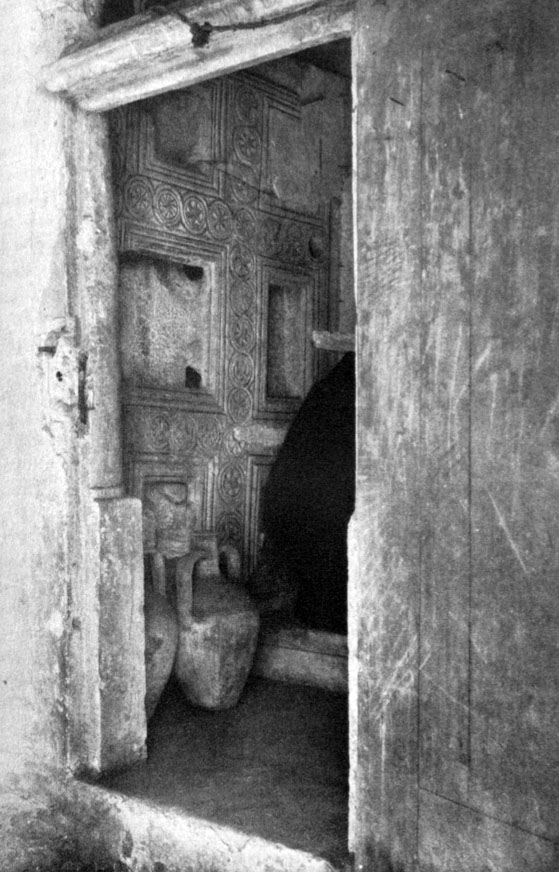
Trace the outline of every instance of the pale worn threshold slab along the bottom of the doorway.
{"label": "pale worn threshold slab along the bottom of the doorway", "polygon": [[[138,872],[343,872],[306,851],[75,781],[80,860]],[[84,826],[84,823],[86,824]],[[120,865],[119,865],[120,864]]]}

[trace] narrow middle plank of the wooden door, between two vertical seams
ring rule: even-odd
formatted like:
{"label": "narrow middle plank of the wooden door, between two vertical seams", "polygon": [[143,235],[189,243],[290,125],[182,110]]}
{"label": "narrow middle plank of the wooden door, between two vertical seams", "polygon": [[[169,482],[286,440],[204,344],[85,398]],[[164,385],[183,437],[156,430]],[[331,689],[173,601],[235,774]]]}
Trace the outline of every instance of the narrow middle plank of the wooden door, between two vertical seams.
{"label": "narrow middle plank of the wooden door, between two vertical seams", "polygon": [[470,71],[454,20],[433,16],[423,38],[420,783],[458,799],[470,762]]}

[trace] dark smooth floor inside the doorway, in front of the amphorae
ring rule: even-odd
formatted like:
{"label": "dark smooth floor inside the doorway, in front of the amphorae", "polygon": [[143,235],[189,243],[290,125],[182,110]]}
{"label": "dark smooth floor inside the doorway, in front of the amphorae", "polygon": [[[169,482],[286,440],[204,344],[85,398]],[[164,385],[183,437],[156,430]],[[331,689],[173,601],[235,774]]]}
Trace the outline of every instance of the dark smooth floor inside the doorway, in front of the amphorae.
{"label": "dark smooth floor inside the doorway, in front of the amphorae", "polygon": [[149,725],[147,763],[104,783],[342,868],[347,697],[252,678],[236,708],[208,712],[171,683]]}

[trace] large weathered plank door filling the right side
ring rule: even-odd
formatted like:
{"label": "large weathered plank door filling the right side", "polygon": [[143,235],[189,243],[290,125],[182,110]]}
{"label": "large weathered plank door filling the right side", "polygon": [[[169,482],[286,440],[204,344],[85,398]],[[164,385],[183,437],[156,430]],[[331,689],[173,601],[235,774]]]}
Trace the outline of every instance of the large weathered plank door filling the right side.
{"label": "large weathered plank door filling the right side", "polygon": [[358,4],[357,868],[557,868],[559,18]]}

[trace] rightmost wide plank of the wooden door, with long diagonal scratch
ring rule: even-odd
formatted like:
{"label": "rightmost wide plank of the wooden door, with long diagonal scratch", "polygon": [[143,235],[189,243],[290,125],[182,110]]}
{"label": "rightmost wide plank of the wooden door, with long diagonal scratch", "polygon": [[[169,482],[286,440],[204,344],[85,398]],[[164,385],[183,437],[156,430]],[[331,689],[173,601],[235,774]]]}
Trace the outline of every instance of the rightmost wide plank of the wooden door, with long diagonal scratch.
{"label": "rightmost wide plank of the wooden door, with long diagonal scratch", "polygon": [[476,46],[472,112],[470,801],[555,842],[558,41],[555,3],[497,6]]}

